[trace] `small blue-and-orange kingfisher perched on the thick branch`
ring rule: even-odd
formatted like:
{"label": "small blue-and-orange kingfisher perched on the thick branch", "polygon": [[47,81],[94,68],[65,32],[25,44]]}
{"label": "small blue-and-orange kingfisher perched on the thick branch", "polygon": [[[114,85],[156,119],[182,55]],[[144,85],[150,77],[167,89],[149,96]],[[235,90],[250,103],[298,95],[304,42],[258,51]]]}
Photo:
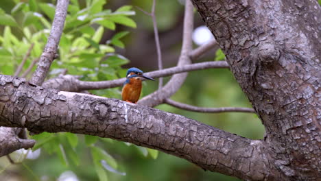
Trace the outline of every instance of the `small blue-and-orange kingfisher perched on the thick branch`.
{"label": "small blue-and-orange kingfisher perched on the thick branch", "polygon": [[121,90],[121,97],[123,101],[128,101],[136,104],[141,95],[141,82],[143,80],[154,80],[143,74],[143,71],[132,67],[126,73],[126,81],[123,82],[123,90]]}

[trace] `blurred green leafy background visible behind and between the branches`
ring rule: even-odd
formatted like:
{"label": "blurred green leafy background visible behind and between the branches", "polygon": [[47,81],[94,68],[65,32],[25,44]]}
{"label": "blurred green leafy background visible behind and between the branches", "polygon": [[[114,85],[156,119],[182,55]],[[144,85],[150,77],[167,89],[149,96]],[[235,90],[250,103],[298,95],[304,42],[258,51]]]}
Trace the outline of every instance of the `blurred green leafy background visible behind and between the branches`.
{"label": "blurred green leafy background visible behind and between the branches", "polygon": [[[180,54],[183,4],[184,1],[171,0],[156,3],[164,67],[174,67]],[[34,47],[19,76],[37,60],[49,36],[55,5],[56,1],[50,0],[0,2],[1,74],[14,75],[32,44]],[[81,80],[113,80],[124,77],[129,67],[139,67],[145,72],[156,70],[152,19],[136,8],[150,12],[151,6],[152,0],[71,0],[59,58],[53,62],[47,78],[67,70],[68,74],[80,75]],[[195,12],[195,28],[202,25]],[[196,62],[215,60],[224,60],[222,51],[210,51]],[[31,75],[26,76],[27,80]],[[142,96],[157,90],[158,82],[145,82],[143,86]],[[91,93],[121,98],[121,88]],[[171,99],[202,107],[250,107],[228,69],[190,72]],[[255,114],[204,114],[165,104],[156,108],[246,138],[263,138],[264,128]],[[34,148],[39,148],[38,154],[30,154],[31,150],[15,152],[10,156],[19,162],[16,165],[6,157],[0,158],[0,180],[238,180],[204,171],[181,158],[108,138],[66,133],[43,133],[32,138],[38,141]],[[100,160],[106,160],[108,167]]]}

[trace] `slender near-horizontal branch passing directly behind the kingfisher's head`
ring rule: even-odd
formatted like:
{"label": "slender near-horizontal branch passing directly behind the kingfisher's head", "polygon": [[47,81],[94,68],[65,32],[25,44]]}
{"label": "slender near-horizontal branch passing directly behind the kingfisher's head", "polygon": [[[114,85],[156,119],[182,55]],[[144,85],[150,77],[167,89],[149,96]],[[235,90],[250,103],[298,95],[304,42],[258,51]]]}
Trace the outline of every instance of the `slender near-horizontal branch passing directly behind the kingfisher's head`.
{"label": "slender near-horizontal branch passing directly behind the kingfisher's head", "polygon": [[[184,65],[181,67],[171,67],[168,69],[163,69],[160,71],[152,71],[145,73],[147,76],[157,78],[165,77],[168,75],[173,75],[175,73],[182,73],[186,71],[197,71],[202,69],[211,68],[229,68],[225,61],[217,62],[202,62]],[[57,90],[64,90],[70,92],[80,92],[82,90],[95,90],[103,88],[113,88],[117,86],[122,86],[126,78],[121,78],[118,80],[108,80],[108,81],[97,81],[97,82],[87,82],[78,80],[78,76],[73,75],[59,75],[53,79],[44,82],[43,87],[45,88],[55,88]]]}

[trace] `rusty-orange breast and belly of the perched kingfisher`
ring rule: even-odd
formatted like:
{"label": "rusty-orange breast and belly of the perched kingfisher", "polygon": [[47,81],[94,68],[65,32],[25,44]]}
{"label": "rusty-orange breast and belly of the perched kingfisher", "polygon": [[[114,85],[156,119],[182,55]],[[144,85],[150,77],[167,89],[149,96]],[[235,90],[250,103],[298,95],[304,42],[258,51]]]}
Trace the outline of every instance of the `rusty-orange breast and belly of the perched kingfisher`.
{"label": "rusty-orange breast and belly of the perched kingfisher", "polygon": [[136,103],[139,100],[139,96],[141,95],[141,80],[137,80],[135,78],[131,78],[128,84],[123,86],[123,90],[121,91],[121,97],[123,101],[131,101],[132,103]]}

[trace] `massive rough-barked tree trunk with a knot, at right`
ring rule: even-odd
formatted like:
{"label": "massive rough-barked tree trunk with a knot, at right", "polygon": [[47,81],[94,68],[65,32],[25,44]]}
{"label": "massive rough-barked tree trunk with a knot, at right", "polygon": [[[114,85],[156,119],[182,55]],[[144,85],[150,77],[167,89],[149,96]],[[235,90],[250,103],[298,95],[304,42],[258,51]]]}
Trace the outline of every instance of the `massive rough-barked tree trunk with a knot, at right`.
{"label": "massive rough-barked tree trunk with a knot, at right", "polygon": [[321,178],[321,10],[317,1],[193,0],[266,130],[287,180]]}

